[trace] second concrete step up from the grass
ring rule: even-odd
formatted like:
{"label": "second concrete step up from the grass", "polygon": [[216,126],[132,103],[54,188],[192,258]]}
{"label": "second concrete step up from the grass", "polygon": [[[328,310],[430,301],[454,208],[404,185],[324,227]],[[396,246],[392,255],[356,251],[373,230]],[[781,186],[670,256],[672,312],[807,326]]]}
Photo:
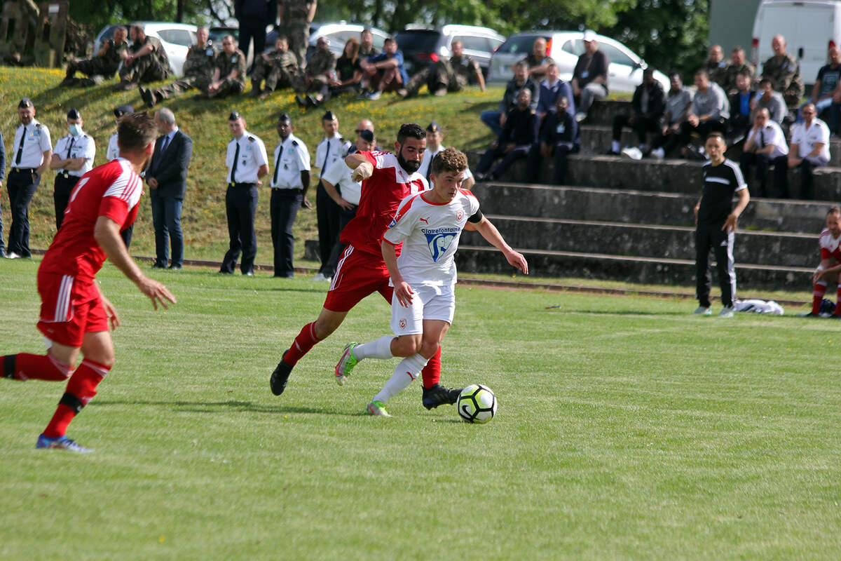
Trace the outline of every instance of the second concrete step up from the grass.
{"label": "second concrete step up from the grass", "polygon": [[[695,227],[619,224],[588,220],[557,220],[489,216],[505,241],[514,247],[540,251],[606,253],[615,256],[695,259]],[[468,246],[482,246],[479,232],[464,232]],[[820,261],[817,236],[740,230],[733,246],[739,262],[780,267],[815,267]]]}

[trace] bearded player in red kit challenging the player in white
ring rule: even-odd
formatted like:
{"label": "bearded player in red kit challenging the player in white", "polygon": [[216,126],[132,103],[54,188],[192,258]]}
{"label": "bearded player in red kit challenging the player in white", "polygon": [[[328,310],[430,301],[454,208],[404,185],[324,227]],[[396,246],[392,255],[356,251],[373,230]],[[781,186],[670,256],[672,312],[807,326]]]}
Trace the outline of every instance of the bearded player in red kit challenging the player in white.
{"label": "bearded player in red kit challenging the player in white", "polygon": [[[283,394],[295,364],[316,343],[336,331],[360,300],[378,292],[391,303],[394,287],[389,286],[389,269],[383,262],[380,245],[400,201],[429,187],[426,178],[417,172],[425,148],[426,131],[418,124],[404,124],[397,133],[394,154],[370,151],[346,156],[348,167],[354,170],[353,181],[362,181],[357,215],[341,231],[341,242],[347,248],[336,267],[318,319],[304,325],[292,346],[283,352],[278,368],[274,369],[269,381],[273,394]],[[438,383],[441,378],[440,348],[421,376],[426,409],[452,404],[458,399],[460,390],[447,389]],[[337,379],[341,382],[344,378]]]}

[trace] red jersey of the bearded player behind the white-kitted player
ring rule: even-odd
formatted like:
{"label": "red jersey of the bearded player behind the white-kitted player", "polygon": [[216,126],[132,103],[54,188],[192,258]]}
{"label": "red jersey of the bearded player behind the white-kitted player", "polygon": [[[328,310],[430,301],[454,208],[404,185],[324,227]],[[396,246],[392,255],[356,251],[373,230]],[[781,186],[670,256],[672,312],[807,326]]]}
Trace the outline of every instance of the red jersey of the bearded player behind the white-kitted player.
{"label": "red jersey of the bearded player behind the white-kitted player", "polygon": [[382,256],[383,234],[404,198],[429,188],[426,177],[409,173],[391,152],[357,152],[373,164],[373,175],[362,182],[356,217],[341,230],[341,243]]}

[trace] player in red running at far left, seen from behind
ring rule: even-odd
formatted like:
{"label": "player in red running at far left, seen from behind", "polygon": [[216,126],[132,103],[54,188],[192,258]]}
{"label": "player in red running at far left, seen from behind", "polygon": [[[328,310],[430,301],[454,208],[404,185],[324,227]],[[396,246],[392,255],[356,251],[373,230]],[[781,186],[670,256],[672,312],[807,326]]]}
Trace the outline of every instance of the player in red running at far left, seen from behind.
{"label": "player in red running at far left, seen from behind", "polygon": [[[95,278],[106,257],[151,299],[156,310],[158,304],[167,308],[167,301],[175,304],[167,287],[140,272],[119,235],[137,216],[143,193],[138,174],[155,147],[155,119],[145,113],[127,114],[119,121],[118,135],[119,158],[87,172],[73,188],[61,228],[38,267],[38,329],[47,340],[46,354],[0,357],[5,378],[67,380],[56,413],[35,444],[38,448],[92,452],[65,432],[114,366],[108,324],[112,329],[119,326],[119,316]],[[80,352],[82,363],[76,368]]]}

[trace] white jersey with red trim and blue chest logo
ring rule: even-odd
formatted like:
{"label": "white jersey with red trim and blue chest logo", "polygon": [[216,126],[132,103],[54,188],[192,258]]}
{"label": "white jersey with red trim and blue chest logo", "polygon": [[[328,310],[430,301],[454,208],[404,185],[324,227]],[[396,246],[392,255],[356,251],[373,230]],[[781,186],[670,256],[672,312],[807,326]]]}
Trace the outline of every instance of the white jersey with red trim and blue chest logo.
{"label": "white jersey with red trim and blue chest logo", "polygon": [[429,195],[404,198],[383,240],[403,242],[397,267],[410,286],[452,287],[458,239],[468,218],[479,212],[479,200],[467,189],[459,189],[449,203],[431,203]]}

